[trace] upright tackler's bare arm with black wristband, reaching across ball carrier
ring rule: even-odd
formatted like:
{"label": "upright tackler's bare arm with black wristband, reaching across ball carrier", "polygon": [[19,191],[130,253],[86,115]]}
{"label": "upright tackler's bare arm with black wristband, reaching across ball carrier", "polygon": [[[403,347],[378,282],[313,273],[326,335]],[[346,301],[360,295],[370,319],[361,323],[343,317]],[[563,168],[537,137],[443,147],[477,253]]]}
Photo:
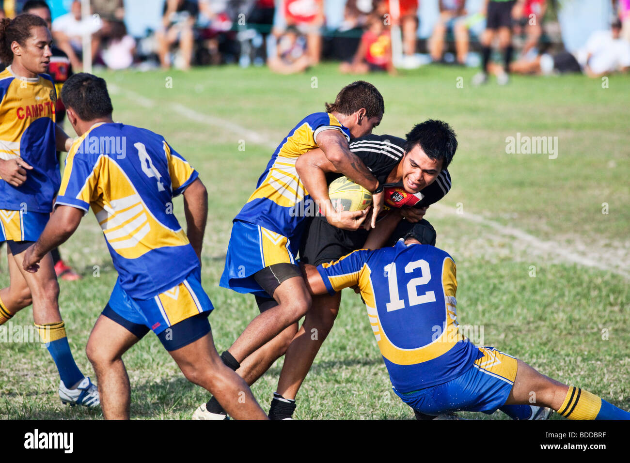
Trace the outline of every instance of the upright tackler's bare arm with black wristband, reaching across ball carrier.
{"label": "upright tackler's bare arm with black wristband, reaching across ball carrier", "polygon": [[376,217],[382,210],[385,195],[381,190],[379,181],[370,173],[365,164],[356,154],[350,151],[348,141],[338,130],[324,130],[317,137],[318,146],[322,149],[326,158],[335,165],[338,172],[347,176],[350,180],[372,191],[372,228],[376,226]]}

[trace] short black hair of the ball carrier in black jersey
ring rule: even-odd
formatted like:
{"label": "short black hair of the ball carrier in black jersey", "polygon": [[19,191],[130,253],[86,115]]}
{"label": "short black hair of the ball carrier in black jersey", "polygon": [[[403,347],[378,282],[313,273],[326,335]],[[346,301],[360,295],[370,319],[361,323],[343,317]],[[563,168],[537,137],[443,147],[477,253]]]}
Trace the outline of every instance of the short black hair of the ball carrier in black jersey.
{"label": "short black hair of the ball carrier in black jersey", "polygon": [[420,145],[422,151],[430,159],[435,161],[442,159],[442,170],[444,170],[449,166],[457,151],[457,135],[446,122],[428,119],[415,125],[407,134],[404,144],[405,154],[416,145]]}

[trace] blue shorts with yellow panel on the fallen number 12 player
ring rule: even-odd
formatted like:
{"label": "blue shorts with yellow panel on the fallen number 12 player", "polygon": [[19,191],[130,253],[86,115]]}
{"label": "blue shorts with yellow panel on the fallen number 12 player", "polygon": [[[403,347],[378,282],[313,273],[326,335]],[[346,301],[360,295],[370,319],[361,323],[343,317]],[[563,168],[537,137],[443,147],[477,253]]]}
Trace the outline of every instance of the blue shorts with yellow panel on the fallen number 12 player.
{"label": "blue shorts with yellow panel on the fallen number 12 player", "polygon": [[478,347],[483,357],[450,381],[419,391],[394,392],[415,411],[429,415],[455,411],[491,414],[507,401],[516,379],[517,360],[493,347]]}

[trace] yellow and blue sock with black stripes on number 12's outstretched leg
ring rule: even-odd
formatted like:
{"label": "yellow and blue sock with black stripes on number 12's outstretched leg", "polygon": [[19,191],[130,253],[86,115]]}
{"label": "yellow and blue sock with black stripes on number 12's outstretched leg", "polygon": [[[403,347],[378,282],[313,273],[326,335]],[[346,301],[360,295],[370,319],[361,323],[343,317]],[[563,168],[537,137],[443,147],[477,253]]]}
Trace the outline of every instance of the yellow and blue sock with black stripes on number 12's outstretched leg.
{"label": "yellow and blue sock with black stripes on number 12's outstretched leg", "polygon": [[630,420],[627,411],[575,386],[569,386],[558,413],[569,420]]}

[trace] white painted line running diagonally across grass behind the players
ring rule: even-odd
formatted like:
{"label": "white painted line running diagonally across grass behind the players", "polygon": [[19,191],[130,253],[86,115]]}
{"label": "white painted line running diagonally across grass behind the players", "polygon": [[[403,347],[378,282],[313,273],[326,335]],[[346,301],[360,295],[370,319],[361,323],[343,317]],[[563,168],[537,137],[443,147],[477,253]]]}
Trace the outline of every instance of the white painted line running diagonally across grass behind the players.
{"label": "white painted line running diagonally across grass behind the players", "polygon": [[[113,94],[124,94],[129,100],[132,100],[140,106],[144,106],[145,108],[154,108],[155,106],[157,106],[155,101],[146,98],[139,93],[135,93],[134,91],[119,88],[114,84],[108,84],[108,88],[110,89],[110,91],[112,91]],[[180,103],[173,103],[171,105],[171,109],[179,115],[186,117],[194,122],[202,123],[205,125],[212,125],[214,127],[229,130],[230,132],[248,138],[256,144],[264,145],[266,147],[270,147],[271,149],[275,149],[277,147],[277,145],[274,144],[267,137],[265,137],[265,135],[260,134],[255,130],[246,129],[238,123],[229,122],[219,117],[200,113],[190,108],[186,108],[186,106],[183,106]],[[581,254],[570,251],[569,249],[561,248],[561,245],[559,243],[555,243],[554,241],[542,241],[536,236],[530,235],[529,233],[515,227],[504,226],[498,222],[495,222],[494,220],[484,219],[483,217],[481,217],[481,215],[470,214],[468,212],[458,214],[454,207],[448,207],[441,204],[433,204],[432,207],[446,214],[459,215],[459,217],[463,217],[464,219],[470,220],[471,222],[476,222],[478,224],[491,227],[503,235],[515,237],[516,239],[524,241],[525,243],[538,249],[539,251],[556,254],[566,261],[587,267],[599,268],[599,270],[612,272],[616,275],[621,275],[621,277],[630,279],[630,273],[624,272],[623,270],[619,270],[617,268],[612,268],[611,266],[605,265],[604,263],[589,259]]]}

